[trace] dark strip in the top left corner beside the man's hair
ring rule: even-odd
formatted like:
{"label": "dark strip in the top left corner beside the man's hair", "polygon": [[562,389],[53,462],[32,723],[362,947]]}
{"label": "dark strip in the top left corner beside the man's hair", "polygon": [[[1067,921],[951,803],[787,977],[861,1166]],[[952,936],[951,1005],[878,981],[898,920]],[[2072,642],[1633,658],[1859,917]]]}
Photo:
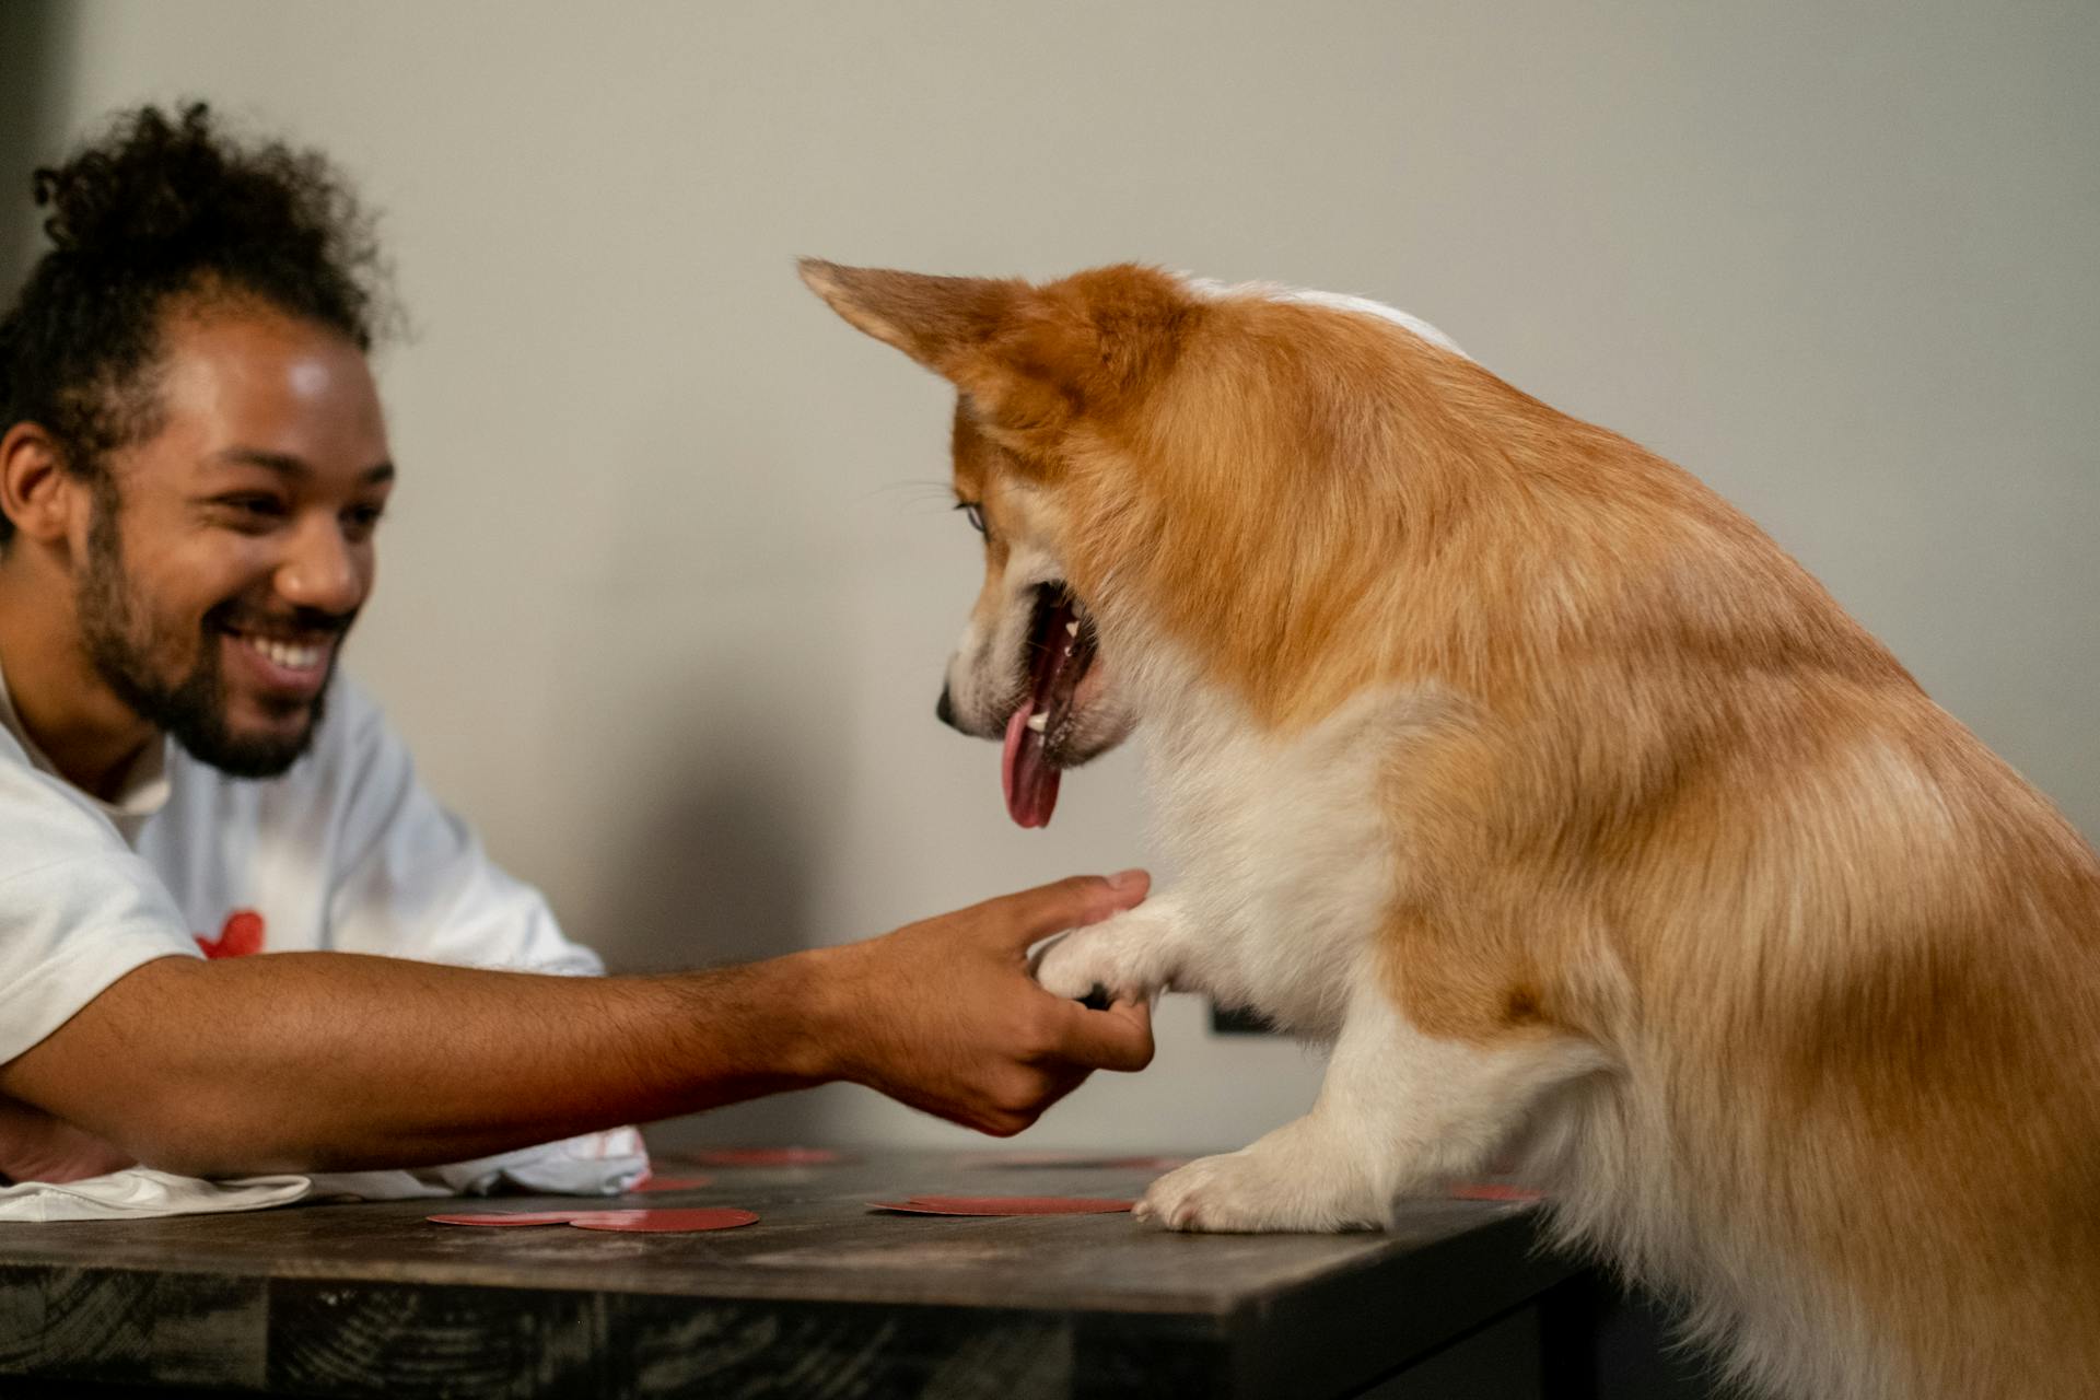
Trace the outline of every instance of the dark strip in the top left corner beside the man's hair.
{"label": "dark strip in the top left corner beside the man's hair", "polygon": [[65,92],[59,55],[71,15],[59,0],[0,0],[0,300],[15,300],[42,252],[29,172],[59,155]]}

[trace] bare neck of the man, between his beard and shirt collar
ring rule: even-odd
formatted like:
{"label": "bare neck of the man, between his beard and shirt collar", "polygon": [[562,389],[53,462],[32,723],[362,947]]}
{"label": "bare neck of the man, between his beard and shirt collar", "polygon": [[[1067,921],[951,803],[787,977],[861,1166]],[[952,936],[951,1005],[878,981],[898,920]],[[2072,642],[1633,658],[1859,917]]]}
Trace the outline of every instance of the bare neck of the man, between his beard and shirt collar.
{"label": "bare neck of the man, between his beard and shirt collar", "polygon": [[160,730],[94,672],[69,590],[25,577],[34,560],[10,554],[0,554],[0,672],[15,718],[59,777],[113,802]]}

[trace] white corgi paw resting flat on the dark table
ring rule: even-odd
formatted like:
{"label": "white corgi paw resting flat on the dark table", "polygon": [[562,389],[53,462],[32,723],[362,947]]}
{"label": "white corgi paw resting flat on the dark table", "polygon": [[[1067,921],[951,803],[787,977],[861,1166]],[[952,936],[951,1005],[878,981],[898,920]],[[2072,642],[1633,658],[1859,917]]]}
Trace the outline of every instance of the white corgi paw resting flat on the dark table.
{"label": "white corgi paw resting flat on the dark table", "polygon": [[1352,1186],[1354,1173],[1317,1159],[1289,1161],[1270,1140],[1201,1157],[1166,1173],[1132,1211],[1166,1230],[1216,1234],[1331,1234],[1378,1230],[1390,1203]]}

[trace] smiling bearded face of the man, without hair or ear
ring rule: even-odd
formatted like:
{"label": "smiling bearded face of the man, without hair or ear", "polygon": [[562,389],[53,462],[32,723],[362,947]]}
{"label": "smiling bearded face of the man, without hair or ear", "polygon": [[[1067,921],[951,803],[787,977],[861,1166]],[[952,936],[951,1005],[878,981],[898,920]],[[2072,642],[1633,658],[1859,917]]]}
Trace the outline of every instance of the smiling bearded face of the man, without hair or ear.
{"label": "smiling bearded face of the man, without hair or ear", "polygon": [[284,772],[372,592],[393,483],[372,372],[252,302],[176,311],[160,432],[109,458],[78,573],[103,682],[200,760]]}

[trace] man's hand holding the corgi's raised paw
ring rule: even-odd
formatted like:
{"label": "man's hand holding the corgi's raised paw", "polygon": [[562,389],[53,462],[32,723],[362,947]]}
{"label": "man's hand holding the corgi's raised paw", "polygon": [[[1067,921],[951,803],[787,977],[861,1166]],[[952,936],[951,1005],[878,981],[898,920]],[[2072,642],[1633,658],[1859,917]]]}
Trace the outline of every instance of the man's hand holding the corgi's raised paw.
{"label": "man's hand holding the corgi's raised paw", "polygon": [[827,1077],[1010,1138],[1096,1068],[1153,1060],[1151,1007],[1090,1012],[1029,976],[1027,951],[1144,898],[1144,871],[1075,875],[821,949]]}

